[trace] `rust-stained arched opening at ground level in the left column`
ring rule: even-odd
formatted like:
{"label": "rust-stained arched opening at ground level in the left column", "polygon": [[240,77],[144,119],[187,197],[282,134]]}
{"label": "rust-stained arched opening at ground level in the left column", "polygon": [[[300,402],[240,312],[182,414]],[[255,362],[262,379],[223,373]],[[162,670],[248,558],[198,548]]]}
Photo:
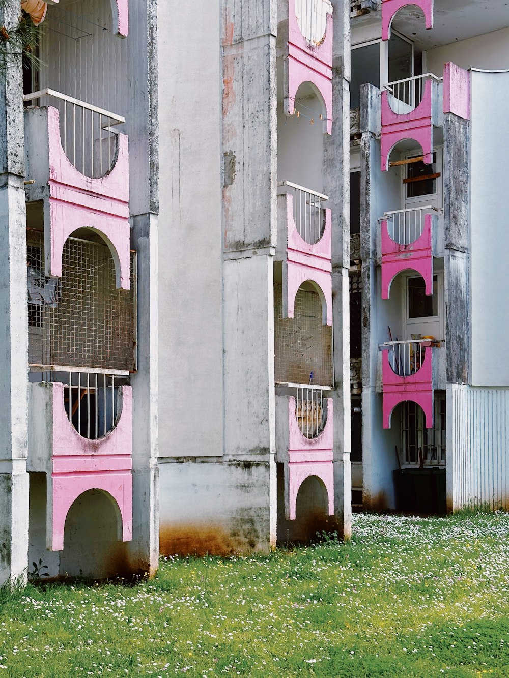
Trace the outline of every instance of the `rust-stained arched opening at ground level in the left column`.
{"label": "rust-stained arched opening at ground level in the left column", "polygon": [[103,490],[80,494],[67,513],[60,574],[95,579],[126,575],[121,525],[119,506],[110,494]]}

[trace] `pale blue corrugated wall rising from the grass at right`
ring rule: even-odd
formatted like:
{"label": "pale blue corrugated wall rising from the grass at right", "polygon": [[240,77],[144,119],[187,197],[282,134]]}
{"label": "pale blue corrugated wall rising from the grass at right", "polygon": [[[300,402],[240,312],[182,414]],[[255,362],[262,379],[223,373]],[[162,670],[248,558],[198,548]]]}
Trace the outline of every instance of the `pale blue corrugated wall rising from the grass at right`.
{"label": "pale blue corrugated wall rising from the grass at right", "polygon": [[447,508],[509,509],[509,389],[447,387]]}

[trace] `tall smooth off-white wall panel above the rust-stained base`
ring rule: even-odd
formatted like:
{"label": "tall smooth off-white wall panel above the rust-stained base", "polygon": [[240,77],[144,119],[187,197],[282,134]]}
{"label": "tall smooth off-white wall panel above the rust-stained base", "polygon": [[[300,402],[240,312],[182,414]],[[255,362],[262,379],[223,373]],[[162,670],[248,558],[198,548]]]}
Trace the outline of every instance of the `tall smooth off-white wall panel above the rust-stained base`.
{"label": "tall smooth off-white wall panel above the rust-stained base", "polygon": [[223,454],[219,16],[216,3],[158,3],[162,457]]}

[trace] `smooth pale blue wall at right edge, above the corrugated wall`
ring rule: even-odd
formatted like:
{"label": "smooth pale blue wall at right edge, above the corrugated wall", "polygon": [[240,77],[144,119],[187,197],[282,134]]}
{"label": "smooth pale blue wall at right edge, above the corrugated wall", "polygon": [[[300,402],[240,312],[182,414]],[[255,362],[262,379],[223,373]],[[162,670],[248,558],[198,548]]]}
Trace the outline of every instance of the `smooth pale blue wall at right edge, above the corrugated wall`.
{"label": "smooth pale blue wall at right edge, above the corrugated wall", "polygon": [[509,384],[507,336],[507,215],[509,192],[503,171],[509,157],[509,72],[472,71],[470,308],[472,384]]}

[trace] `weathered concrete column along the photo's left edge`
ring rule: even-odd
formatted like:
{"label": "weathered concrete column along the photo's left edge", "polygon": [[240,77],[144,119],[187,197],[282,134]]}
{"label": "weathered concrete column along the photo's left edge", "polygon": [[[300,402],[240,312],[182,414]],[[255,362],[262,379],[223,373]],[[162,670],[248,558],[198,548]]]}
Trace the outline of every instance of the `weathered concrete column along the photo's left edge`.
{"label": "weathered concrete column along the photo's left edge", "polygon": [[[19,3],[0,9],[16,24]],[[0,77],[0,585],[26,580],[27,454],[26,214],[21,62]]]}

